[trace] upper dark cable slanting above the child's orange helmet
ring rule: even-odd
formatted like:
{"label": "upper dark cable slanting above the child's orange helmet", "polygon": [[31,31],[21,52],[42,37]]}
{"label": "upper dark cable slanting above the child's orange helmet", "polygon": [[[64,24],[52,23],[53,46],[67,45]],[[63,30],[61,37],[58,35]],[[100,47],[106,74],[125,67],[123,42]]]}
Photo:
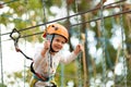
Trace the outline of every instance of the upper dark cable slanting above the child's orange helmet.
{"label": "upper dark cable slanting above the child's orange helmet", "polygon": [[[109,3],[107,5],[104,5],[104,8],[107,8],[108,5],[111,5],[111,4],[115,4],[115,3],[119,3],[119,2],[123,2],[123,1],[127,1],[127,0],[122,0],[122,1],[117,1],[117,2],[114,2],[114,3]],[[118,5],[116,5],[118,7]],[[53,22],[58,22],[58,21],[61,21],[61,20],[66,20],[66,18],[69,18],[69,17],[73,17],[73,16],[76,16],[76,15],[82,15],[82,14],[85,14],[87,12],[93,12],[93,11],[96,11],[100,9],[99,7],[98,8],[95,8],[95,9],[92,9],[92,10],[87,10],[87,11],[84,11],[84,12],[80,12],[80,13],[76,13],[76,14],[73,14],[73,15],[69,15],[69,16],[66,16],[66,17],[62,17],[62,18],[58,18],[58,20],[53,20],[51,22],[46,22],[44,24],[38,24],[38,25],[35,25],[35,26],[31,26],[31,27],[26,27],[26,28],[23,28],[23,29],[20,29],[19,32],[23,32],[23,30],[27,30],[27,29],[32,29],[32,28],[35,28],[35,27],[38,27],[38,26],[41,26],[41,25],[46,25],[46,24],[49,24],[49,23],[53,23]],[[114,16],[114,15],[112,15]],[[76,24],[78,25],[78,24]],[[5,34],[1,34],[1,36],[3,35],[8,35],[10,33],[5,33]]]}

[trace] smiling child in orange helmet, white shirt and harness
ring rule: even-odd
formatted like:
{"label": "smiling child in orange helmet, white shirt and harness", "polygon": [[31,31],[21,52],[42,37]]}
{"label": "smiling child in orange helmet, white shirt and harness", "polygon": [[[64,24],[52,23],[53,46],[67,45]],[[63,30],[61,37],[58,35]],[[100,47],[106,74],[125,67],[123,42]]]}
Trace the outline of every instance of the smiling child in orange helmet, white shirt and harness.
{"label": "smiling child in orange helmet, white shirt and harness", "polygon": [[31,79],[31,87],[57,87],[53,75],[59,63],[73,61],[82,51],[82,46],[78,45],[72,52],[62,53],[61,49],[69,40],[69,33],[60,24],[49,25],[43,37],[46,37],[47,40],[34,57],[33,70],[35,73]]}

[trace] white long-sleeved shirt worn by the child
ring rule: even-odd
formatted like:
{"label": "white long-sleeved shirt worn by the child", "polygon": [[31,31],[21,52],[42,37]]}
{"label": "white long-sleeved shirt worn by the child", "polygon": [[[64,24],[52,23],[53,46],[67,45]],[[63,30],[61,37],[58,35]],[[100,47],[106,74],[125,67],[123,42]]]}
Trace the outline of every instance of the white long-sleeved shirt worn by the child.
{"label": "white long-sleeved shirt worn by the child", "polygon": [[55,55],[50,55],[47,51],[45,58],[43,58],[40,54],[41,49],[43,48],[37,48],[37,51],[34,55],[34,70],[45,77],[53,76],[59,63],[67,64],[76,58],[74,52],[62,50],[57,52]]}

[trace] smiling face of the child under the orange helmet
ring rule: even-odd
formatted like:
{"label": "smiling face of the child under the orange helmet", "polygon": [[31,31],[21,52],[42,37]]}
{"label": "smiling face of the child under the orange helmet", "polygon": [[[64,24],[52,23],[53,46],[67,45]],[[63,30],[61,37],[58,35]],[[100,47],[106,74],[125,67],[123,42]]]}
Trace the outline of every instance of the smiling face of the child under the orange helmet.
{"label": "smiling face of the child under the orange helmet", "polygon": [[66,44],[66,38],[59,35],[56,35],[52,40],[52,49],[55,51],[59,51],[63,48],[63,45]]}

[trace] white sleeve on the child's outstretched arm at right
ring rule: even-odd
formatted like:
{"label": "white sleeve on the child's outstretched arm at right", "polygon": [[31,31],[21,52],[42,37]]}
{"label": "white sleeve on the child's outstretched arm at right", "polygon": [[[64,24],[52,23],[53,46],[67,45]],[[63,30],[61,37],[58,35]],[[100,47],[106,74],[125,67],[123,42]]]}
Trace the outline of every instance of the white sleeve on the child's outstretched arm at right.
{"label": "white sleeve on the child's outstretched arm at right", "polygon": [[68,64],[70,62],[72,62],[73,60],[75,60],[76,57],[78,55],[74,52],[66,51],[64,53],[62,52],[61,58],[60,58],[60,62]]}

